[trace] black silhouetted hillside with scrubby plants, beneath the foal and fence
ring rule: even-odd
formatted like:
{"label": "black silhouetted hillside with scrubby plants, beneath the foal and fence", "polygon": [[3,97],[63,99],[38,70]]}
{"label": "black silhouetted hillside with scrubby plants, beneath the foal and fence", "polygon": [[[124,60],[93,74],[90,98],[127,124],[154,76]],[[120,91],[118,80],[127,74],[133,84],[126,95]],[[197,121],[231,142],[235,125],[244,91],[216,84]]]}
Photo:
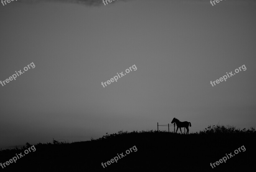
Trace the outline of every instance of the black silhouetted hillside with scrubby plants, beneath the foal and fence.
{"label": "black silhouetted hillside with scrubby plants, beneath the foal and fence", "polygon": [[[53,139],[52,143],[35,145],[36,151],[10,164],[4,171],[239,171],[255,169],[255,129],[236,129],[234,126],[208,126],[203,131],[181,135],[166,131],[119,131],[90,141],[66,143]],[[106,168],[117,153],[136,145],[131,153]],[[210,163],[244,145],[245,152],[212,169]],[[21,149],[0,151],[0,162],[10,160]],[[1,167],[0,167],[1,168]]]}

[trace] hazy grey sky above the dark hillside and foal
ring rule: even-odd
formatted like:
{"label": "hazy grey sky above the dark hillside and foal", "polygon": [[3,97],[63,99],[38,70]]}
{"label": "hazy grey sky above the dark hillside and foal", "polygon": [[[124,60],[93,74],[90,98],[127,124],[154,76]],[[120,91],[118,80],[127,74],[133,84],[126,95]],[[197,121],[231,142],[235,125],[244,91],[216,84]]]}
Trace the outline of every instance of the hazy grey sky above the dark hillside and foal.
{"label": "hazy grey sky above the dark hillside and foal", "polygon": [[[252,0],[0,4],[0,80],[35,64],[0,85],[0,148],[156,130],[174,117],[191,122],[190,133],[218,123],[255,126],[255,7]],[[132,65],[136,71],[101,85]]]}

